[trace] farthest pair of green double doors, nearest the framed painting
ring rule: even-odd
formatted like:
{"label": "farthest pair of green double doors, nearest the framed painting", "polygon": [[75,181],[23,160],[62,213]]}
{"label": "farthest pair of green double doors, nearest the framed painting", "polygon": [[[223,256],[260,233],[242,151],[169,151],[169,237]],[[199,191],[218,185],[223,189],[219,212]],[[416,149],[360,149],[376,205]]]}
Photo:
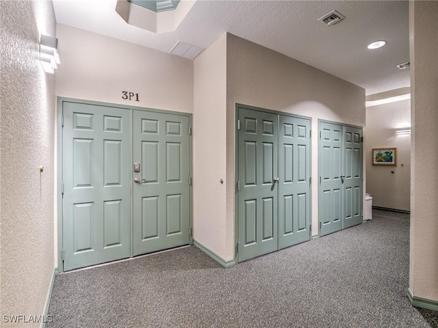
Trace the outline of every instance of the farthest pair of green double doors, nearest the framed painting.
{"label": "farthest pair of green double doors, nearest the framed painting", "polygon": [[320,236],[362,223],[362,129],[320,122]]}

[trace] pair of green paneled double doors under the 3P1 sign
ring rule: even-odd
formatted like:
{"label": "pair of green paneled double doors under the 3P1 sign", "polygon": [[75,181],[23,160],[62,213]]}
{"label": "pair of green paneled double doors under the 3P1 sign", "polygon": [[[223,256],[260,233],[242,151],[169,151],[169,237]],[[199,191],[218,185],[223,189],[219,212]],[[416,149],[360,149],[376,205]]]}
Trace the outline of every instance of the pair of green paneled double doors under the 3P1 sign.
{"label": "pair of green paneled double doors under the 3P1 sign", "polygon": [[62,102],[64,271],[190,242],[189,117]]}

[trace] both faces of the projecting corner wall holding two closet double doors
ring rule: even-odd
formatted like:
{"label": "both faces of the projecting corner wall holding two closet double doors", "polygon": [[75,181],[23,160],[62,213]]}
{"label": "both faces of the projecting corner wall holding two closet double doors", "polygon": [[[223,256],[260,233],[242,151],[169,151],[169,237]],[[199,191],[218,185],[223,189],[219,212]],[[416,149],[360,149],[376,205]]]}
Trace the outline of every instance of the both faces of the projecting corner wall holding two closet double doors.
{"label": "both faces of the projecting corner wall holding two closet double doors", "polygon": [[[226,73],[220,72],[223,66],[227,68]],[[199,137],[202,139],[195,143],[214,145],[216,150],[205,160],[208,165],[205,165],[203,170],[214,172],[205,183],[205,187],[196,191],[199,182],[194,180],[195,195],[201,195],[202,200],[209,200],[205,204],[201,202],[201,206],[206,210],[204,215],[198,218],[203,220],[202,223],[199,224],[196,220],[195,227],[203,227],[202,234],[205,232],[211,236],[205,238],[208,240],[205,246],[228,262],[234,259],[237,242],[235,240],[235,104],[310,116],[313,130],[311,176],[315,181],[318,180],[316,177],[318,177],[319,138],[315,137],[318,135],[318,119],[365,126],[365,90],[230,33],[222,36],[196,58],[194,68],[194,121],[205,120],[214,124],[211,129],[213,133],[208,133],[207,129],[206,133],[199,136],[197,134],[199,131],[196,132],[195,129],[195,140]],[[222,85],[224,79],[227,83],[226,90]],[[203,97],[201,93],[207,96]],[[224,133],[226,133],[225,145]],[[224,152],[225,162],[222,157]],[[223,165],[226,165],[226,168]],[[217,182],[222,178],[223,172],[226,172],[227,176],[224,178],[224,186],[221,186]],[[226,188],[225,193],[222,187]],[[317,235],[318,183],[313,183],[311,197],[312,234]],[[195,198],[195,204],[196,202]],[[211,208],[207,210],[210,204]],[[215,210],[219,204],[226,204],[225,213],[223,210]],[[197,234],[198,232],[195,236]]]}

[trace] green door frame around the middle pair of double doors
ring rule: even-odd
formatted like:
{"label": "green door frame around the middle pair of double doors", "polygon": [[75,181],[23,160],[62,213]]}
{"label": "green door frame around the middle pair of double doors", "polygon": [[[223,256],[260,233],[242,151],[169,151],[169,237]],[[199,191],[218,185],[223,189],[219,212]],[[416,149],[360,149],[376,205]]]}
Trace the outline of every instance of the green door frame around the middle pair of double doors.
{"label": "green door frame around the middle pair of double doors", "polygon": [[[237,126],[237,121],[239,120],[239,109],[250,109],[253,111],[261,111],[263,113],[272,113],[272,114],[276,114],[276,115],[285,115],[285,116],[290,116],[292,118],[302,118],[305,120],[309,120],[310,121],[310,148],[309,148],[309,152],[310,152],[310,170],[309,170],[309,175],[310,175],[310,180],[312,178],[312,118],[309,116],[305,116],[305,115],[298,115],[298,114],[294,114],[294,113],[288,113],[285,111],[274,111],[272,109],[265,109],[265,108],[261,108],[261,107],[255,107],[255,106],[251,106],[251,105],[244,105],[241,104],[239,102],[235,102],[235,111],[234,111],[234,133],[235,133],[235,138],[234,138],[234,169],[235,169],[235,180],[234,180],[234,259],[235,259],[235,263],[239,263],[239,191],[237,190],[237,181],[239,181],[239,128]],[[278,200],[277,200],[277,206],[278,206]],[[309,217],[309,223],[310,226],[312,224],[312,185],[310,184],[310,217]],[[277,226],[277,230],[279,229],[279,227]],[[277,231],[278,232],[278,231]],[[309,241],[311,241],[311,236],[312,231],[311,229],[309,229]],[[278,248],[278,238],[277,238],[277,248]]]}

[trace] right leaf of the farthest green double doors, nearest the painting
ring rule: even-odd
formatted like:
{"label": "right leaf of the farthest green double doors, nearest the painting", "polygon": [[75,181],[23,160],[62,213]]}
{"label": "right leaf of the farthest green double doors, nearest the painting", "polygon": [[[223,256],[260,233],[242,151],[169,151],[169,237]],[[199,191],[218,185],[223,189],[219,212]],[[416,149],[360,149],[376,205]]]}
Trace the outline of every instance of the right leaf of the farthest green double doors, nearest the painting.
{"label": "right leaf of the farthest green double doors, nearest the painting", "polygon": [[362,223],[362,130],[344,126],[344,228]]}

